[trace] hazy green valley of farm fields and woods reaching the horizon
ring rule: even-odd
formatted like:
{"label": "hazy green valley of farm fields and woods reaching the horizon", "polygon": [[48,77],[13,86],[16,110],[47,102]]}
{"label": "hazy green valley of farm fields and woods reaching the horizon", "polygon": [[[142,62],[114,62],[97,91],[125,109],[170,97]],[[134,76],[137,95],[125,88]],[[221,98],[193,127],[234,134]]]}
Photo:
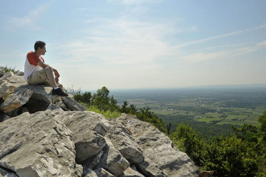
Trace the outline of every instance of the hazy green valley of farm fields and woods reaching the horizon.
{"label": "hazy green valley of farm fields and woods reaching the horizon", "polygon": [[[265,89],[264,89],[265,90]],[[116,95],[118,102],[128,101],[136,109],[149,107],[159,118],[176,116],[186,120],[221,124],[252,124],[266,110],[266,91],[249,89],[225,90],[156,90],[136,91],[130,98]],[[161,115],[161,116],[160,116]],[[211,121],[211,122],[210,122]]]}

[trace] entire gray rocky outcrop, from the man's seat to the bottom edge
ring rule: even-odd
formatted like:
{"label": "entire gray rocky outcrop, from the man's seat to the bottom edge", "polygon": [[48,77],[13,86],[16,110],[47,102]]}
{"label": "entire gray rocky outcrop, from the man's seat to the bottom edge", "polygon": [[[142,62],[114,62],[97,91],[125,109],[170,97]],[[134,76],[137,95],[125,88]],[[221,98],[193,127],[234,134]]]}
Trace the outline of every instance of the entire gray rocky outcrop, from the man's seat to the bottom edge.
{"label": "entire gray rocky outcrop, from the man's seat to the bottom edge", "polygon": [[23,75],[0,71],[0,176],[200,176],[151,124],[106,119]]}

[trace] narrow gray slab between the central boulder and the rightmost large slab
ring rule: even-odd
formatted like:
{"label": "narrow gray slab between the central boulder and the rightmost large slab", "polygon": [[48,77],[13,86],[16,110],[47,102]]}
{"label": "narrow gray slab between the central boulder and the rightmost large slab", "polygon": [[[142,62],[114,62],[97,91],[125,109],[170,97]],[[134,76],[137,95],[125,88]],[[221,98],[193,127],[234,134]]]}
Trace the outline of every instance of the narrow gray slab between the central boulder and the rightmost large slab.
{"label": "narrow gray slab between the central boulder and the rightmost large slab", "polygon": [[139,163],[144,159],[142,149],[134,141],[134,138],[121,123],[109,121],[111,126],[106,137],[110,139],[114,147],[130,162]]}

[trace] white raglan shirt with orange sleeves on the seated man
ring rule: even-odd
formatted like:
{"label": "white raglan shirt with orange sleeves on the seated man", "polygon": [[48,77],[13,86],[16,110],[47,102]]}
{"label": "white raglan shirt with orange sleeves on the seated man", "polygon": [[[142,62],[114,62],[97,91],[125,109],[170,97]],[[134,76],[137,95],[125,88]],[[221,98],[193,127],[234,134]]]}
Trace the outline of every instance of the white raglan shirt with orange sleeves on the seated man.
{"label": "white raglan shirt with orange sleeves on the seated man", "polygon": [[37,63],[39,61],[43,61],[43,63],[44,63],[43,57],[41,57],[41,56],[38,57],[38,55],[36,53],[34,53],[33,51],[27,53],[26,61],[25,61],[25,65],[24,65],[24,80],[27,81],[28,76],[30,76],[32,73],[34,73],[36,71],[43,69],[42,67],[37,65]]}

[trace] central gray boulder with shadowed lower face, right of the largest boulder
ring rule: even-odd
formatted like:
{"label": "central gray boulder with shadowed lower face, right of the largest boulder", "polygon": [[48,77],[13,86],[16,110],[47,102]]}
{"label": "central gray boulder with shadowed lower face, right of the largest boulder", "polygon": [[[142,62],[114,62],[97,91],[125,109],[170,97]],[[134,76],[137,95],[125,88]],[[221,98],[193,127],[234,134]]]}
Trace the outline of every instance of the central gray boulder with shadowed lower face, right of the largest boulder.
{"label": "central gray boulder with shadowed lower face, right of the largest boulder", "polygon": [[57,115],[56,118],[73,133],[77,163],[99,153],[105,146],[106,142],[103,136],[110,129],[106,120],[102,120],[88,111],[66,111]]}

